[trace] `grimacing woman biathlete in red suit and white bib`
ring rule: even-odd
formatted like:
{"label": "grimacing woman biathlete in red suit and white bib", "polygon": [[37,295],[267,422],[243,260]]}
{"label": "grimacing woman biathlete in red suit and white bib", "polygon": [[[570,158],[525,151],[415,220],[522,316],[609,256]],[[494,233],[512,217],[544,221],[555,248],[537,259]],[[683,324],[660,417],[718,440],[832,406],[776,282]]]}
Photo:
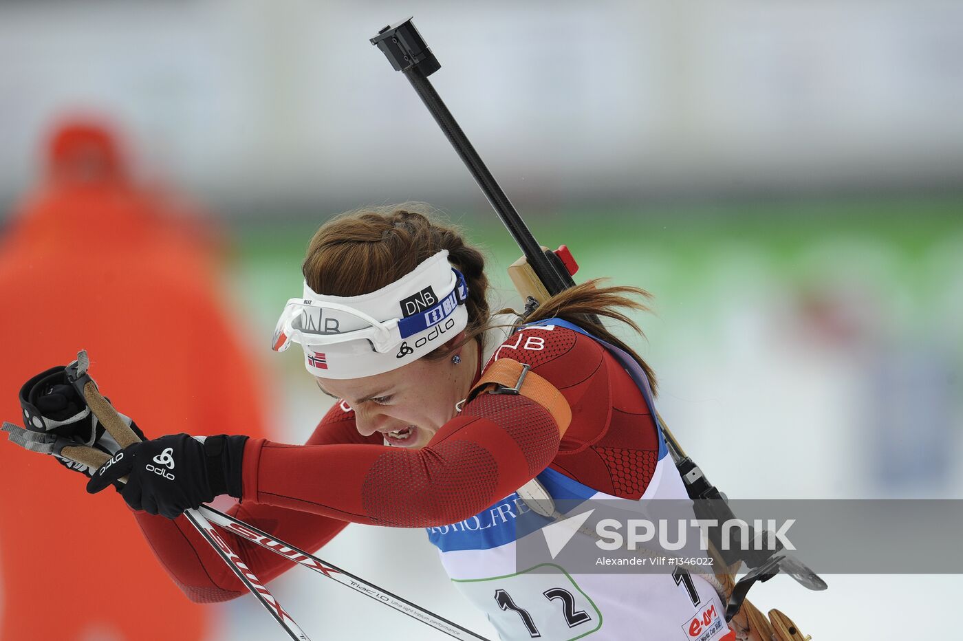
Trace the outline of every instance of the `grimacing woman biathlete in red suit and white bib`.
{"label": "grimacing woman biathlete in red suit and white bib", "polygon": [[[129,474],[123,499],[170,577],[199,603],[246,593],[180,516],[228,494],[241,500],[237,518],[310,551],[348,523],[428,528],[449,576],[503,639],[735,640],[700,575],[516,567],[514,519],[527,509],[516,491],[535,477],[556,497],[687,495],[653,420],[653,373],[589,320],[638,330],[618,310],[641,309],[627,295],[645,292],[587,282],[512,331],[489,311],[483,267],[454,229],[418,213],[328,221],[273,344],[299,343],[321,392],[338,399],[307,443],[162,436],[124,449],[88,490]],[[519,394],[495,393],[519,379]],[[242,540],[227,543],[262,581],[292,567]]]}

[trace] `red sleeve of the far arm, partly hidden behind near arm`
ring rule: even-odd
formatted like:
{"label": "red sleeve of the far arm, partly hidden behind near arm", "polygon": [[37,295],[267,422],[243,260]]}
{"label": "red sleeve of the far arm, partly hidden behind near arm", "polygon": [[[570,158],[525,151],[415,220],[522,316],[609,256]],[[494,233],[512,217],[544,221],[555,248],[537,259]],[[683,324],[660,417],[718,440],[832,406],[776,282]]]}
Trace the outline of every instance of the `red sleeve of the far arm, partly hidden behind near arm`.
{"label": "red sleeve of the far arm, partly hidden behind near arm", "polygon": [[[379,442],[366,438],[354,428],[354,413],[339,405],[332,407],[319,423],[309,445]],[[348,524],[330,517],[299,512],[273,505],[251,502],[234,505],[230,514],[272,533],[302,550],[318,550]],[[197,603],[226,601],[247,593],[247,589],[230,571],[221,557],[211,549],[184,517],[174,520],[136,512],[138,525],[161,565],[181,590]],[[269,581],[295,564],[273,551],[266,550],[243,537],[219,530],[231,550],[237,552],[255,575]]]}

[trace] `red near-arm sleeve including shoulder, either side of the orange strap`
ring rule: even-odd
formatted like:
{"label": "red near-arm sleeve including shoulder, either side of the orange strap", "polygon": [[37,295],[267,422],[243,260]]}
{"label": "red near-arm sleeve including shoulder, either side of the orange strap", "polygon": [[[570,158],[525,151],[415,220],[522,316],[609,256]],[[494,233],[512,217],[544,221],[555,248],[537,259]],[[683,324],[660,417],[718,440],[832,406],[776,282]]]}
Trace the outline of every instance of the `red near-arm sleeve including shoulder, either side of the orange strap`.
{"label": "red near-arm sleeve including shoulder, either side of the orange strap", "polygon": [[[638,405],[638,389],[608,352],[569,329],[533,327],[510,337],[492,358],[506,357],[532,365],[566,397],[573,418],[564,440],[549,412],[528,398],[481,395],[423,449],[252,439],[245,449],[244,499],[356,523],[429,527],[477,514],[549,464],[617,496],[624,491],[613,491],[616,479],[625,485],[631,478],[633,491],[644,487],[647,480],[626,473],[625,465],[606,462],[606,456],[621,457],[623,446],[644,451],[655,443],[654,427],[639,427],[647,409]],[[624,429],[610,435],[612,416],[620,411],[612,405],[613,391],[635,412],[628,426],[638,437]]]}

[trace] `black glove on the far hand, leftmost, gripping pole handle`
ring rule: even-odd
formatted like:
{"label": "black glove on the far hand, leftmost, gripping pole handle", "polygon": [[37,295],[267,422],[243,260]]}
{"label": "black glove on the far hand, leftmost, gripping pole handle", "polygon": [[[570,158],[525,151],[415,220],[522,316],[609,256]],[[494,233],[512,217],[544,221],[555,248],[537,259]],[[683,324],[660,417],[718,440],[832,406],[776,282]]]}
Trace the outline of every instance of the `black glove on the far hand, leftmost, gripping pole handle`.
{"label": "black glove on the far hand, leftmost, gripping pole handle", "polygon": [[[70,368],[76,368],[76,362],[40,372],[24,383],[19,400],[26,427],[3,423],[2,429],[15,445],[49,454],[68,470],[91,476],[94,470],[65,458],[61,451],[65,447],[87,446],[114,455],[120,447],[97,422],[87,401],[69,380]],[[120,418],[143,439],[136,423],[122,414]]]}

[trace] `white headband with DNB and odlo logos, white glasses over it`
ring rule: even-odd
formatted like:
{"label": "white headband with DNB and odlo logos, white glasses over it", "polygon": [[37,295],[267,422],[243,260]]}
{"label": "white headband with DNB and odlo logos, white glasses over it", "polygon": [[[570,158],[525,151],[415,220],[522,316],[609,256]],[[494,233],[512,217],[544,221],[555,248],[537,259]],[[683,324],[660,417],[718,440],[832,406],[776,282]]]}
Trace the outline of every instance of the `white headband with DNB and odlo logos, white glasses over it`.
{"label": "white headband with DNB and odlo logos, white glasses over it", "polygon": [[274,328],[272,348],[304,348],[304,367],[323,378],[391,372],[441,346],[468,324],[464,276],[443,249],[401,280],[357,296],[320,295],[304,283]]}

